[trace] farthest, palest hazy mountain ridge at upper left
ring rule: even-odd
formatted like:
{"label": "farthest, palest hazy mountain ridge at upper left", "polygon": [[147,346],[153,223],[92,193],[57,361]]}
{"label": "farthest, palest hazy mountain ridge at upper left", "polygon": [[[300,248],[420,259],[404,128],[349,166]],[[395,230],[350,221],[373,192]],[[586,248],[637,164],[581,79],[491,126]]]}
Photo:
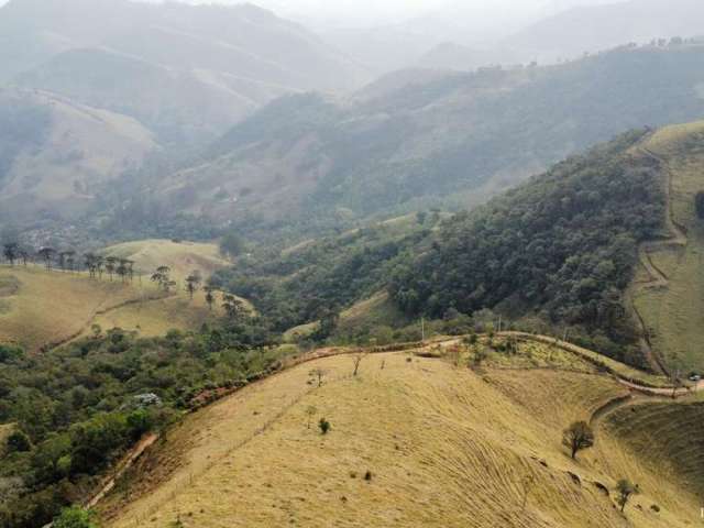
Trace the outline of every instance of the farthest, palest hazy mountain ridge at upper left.
{"label": "farthest, palest hazy mountain ridge at upper left", "polygon": [[12,0],[0,10],[0,80],[128,114],[166,144],[215,139],[283,94],[367,79],[252,4]]}

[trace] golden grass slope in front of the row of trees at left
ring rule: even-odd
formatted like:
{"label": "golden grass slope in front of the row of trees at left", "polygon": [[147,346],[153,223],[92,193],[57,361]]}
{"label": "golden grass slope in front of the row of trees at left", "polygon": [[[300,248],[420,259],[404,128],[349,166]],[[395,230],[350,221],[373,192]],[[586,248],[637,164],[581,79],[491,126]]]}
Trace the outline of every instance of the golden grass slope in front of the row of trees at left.
{"label": "golden grass slope in front of the row of trees at left", "polygon": [[33,352],[88,334],[92,323],[147,337],[197,328],[210,317],[202,294],[189,301],[183,292],[164,297],[151,284],[94,280],[38,266],[0,267],[0,342],[18,342]]}

